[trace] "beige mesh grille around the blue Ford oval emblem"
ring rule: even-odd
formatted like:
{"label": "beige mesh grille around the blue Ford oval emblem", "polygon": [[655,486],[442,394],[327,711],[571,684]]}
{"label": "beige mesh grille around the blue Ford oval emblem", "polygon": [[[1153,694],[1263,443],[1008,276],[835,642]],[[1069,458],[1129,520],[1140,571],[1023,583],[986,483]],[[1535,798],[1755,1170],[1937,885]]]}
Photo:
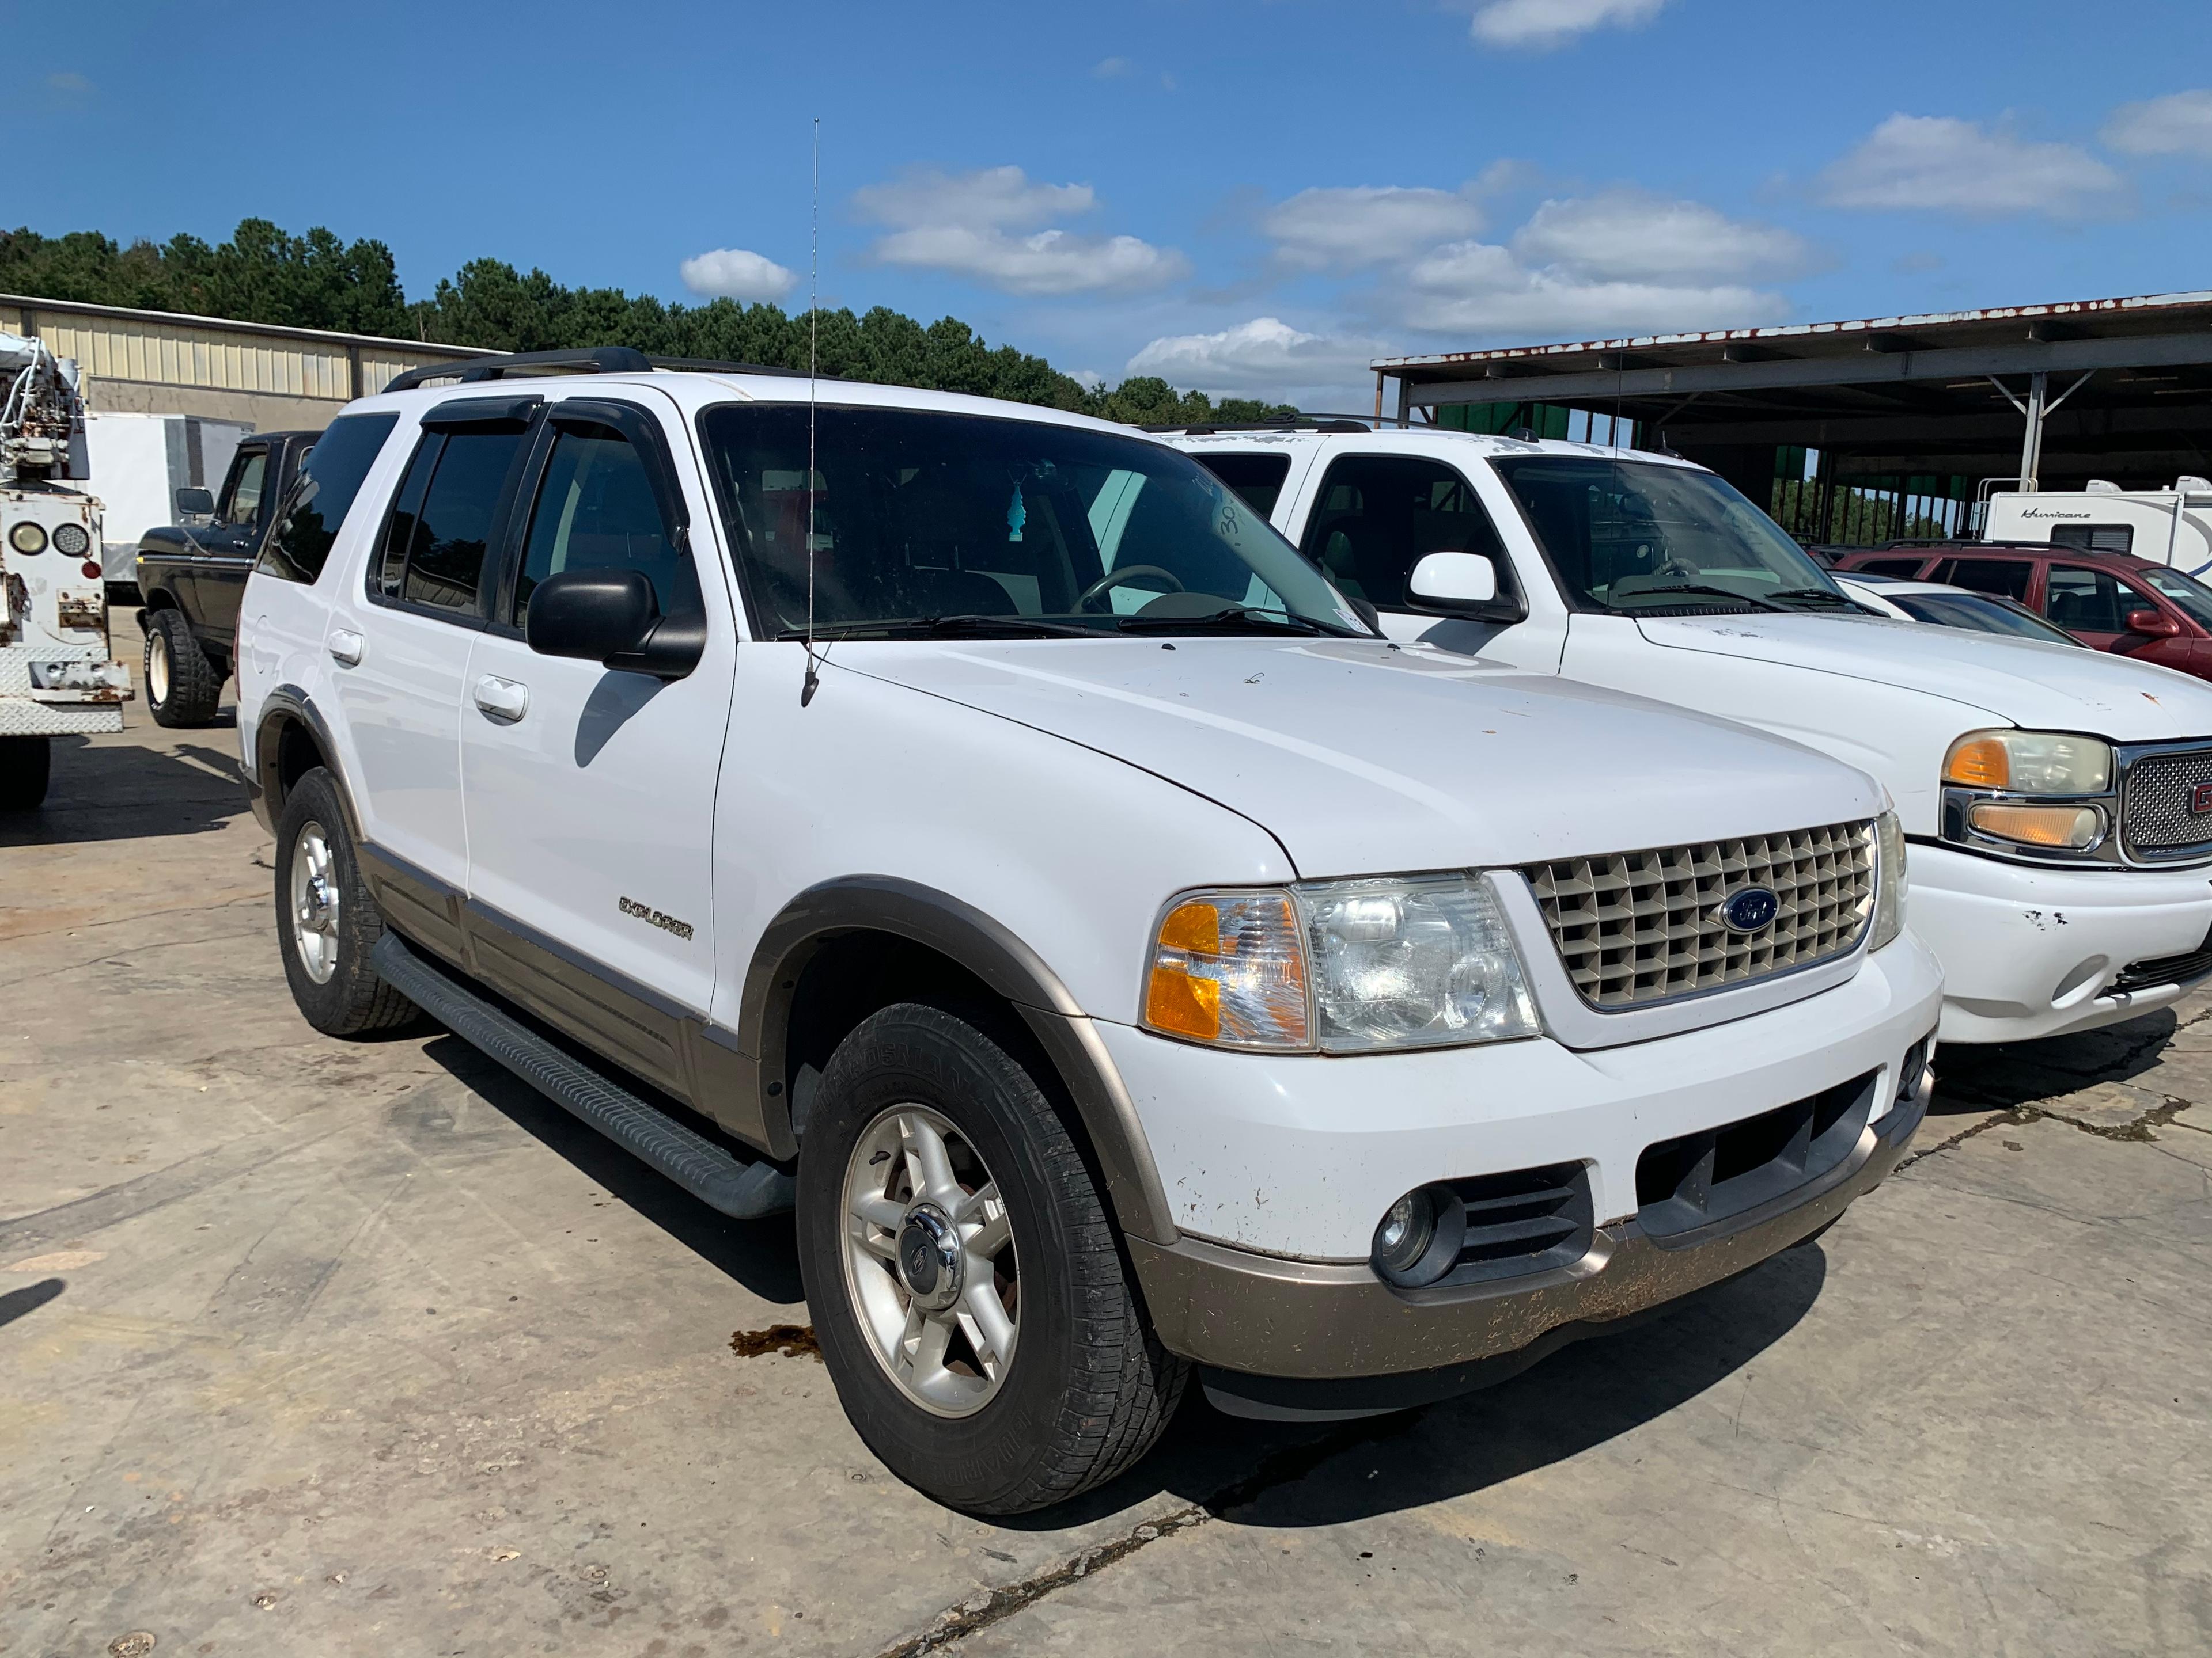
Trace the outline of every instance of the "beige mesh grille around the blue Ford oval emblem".
{"label": "beige mesh grille around the blue Ford oval emblem", "polygon": [[[1568,858],[1522,873],[1582,999],[1644,1008],[1851,951],[1874,915],[1874,825]],[[1743,886],[1781,900],[1756,933],[1719,917]]]}

